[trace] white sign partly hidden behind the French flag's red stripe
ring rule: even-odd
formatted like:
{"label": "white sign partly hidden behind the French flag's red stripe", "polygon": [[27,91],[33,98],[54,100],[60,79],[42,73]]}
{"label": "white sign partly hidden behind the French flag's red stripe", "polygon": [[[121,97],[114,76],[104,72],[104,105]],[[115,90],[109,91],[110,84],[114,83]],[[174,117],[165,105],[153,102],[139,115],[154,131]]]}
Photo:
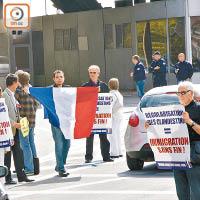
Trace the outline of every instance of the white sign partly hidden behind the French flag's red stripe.
{"label": "white sign partly hidden behind the French flag's red stripe", "polygon": [[112,133],[112,94],[99,93],[92,134]]}

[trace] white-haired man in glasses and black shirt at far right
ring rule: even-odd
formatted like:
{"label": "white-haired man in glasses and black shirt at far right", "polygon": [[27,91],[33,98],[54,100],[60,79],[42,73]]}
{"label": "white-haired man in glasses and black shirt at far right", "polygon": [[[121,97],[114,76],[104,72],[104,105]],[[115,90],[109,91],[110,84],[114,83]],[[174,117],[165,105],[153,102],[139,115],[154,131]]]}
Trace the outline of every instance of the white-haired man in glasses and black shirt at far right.
{"label": "white-haired man in glasses and black shirt at far right", "polygon": [[192,169],[174,170],[176,191],[179,200],[198,200],[200,198],[200,106],[193,100],[193,85],[188,81],[179,84],[177,95],[185,107],[182,117],[189,132]]}

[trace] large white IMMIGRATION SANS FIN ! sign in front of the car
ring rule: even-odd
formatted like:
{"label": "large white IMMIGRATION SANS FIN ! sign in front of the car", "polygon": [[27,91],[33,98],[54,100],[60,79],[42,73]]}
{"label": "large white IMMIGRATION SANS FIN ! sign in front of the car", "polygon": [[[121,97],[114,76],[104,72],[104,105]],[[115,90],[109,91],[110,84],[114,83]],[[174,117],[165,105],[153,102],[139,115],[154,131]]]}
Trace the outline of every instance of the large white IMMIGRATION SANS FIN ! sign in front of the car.
{"label": "large white IMMIGRATION SANS FIN ! sign in front of the car", "polygon": [[182,105],[143,108],[149,123],[149,144],[158,168],[191,168],[190,141],[187,126],[182,118]]}

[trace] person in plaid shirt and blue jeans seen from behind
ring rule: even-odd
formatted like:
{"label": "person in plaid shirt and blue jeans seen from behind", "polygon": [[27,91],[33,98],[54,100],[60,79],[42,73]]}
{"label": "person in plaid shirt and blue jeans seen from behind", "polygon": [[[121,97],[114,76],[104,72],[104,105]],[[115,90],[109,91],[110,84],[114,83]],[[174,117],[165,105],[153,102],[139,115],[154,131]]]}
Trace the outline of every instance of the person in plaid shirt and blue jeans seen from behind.
{"label": "person in plaid shirt and blue jeans seen from behind", "polygon": [[34,142],[35,118],[39,103],[29,94],[29,81],[30,74],[28,72],[18,73],[18,88],[15,92],[20,117],[26,117],[29,122],[28,136],[24,137],[22,132],[19,132],[20,146],[24,154],[25,174],[28,176],[39,174],[39,159]]}

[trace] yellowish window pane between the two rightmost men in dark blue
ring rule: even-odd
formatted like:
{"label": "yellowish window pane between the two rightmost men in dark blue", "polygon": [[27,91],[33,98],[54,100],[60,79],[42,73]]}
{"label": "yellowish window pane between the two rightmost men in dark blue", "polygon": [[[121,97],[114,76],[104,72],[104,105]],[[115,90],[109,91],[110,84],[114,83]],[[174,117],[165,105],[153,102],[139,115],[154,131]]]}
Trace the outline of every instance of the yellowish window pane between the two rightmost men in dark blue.
{"label": "yellowish window pane between the two rightmost men in dark blue", "polygon": [[170,18],[168,20],[169,32],[169,57],[171,72],[178,62],[178,54],[185,53],[185,22],[184,18]]}

